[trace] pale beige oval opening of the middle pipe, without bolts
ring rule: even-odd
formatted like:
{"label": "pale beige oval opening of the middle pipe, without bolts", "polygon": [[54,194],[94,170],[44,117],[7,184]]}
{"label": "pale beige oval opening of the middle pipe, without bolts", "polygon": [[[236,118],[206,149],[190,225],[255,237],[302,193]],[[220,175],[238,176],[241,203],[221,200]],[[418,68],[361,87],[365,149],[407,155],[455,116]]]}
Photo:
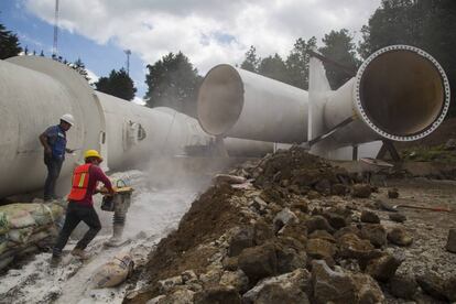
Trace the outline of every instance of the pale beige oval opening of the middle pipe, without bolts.
{"label": "pale beige oval opening of the middle pipe, without bolts", "polygon": [[230,65],[210,69],[199,87],[197,112],[202,128],[213,135],[227,132],[243,107],[243,85]]}

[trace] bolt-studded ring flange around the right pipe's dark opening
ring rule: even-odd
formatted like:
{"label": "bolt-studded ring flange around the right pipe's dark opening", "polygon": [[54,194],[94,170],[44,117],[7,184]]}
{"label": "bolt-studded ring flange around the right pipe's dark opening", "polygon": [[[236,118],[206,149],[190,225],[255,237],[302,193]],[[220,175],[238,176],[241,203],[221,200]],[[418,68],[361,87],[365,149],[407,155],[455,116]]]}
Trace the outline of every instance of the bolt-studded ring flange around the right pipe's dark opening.
{"label": "bolt-studded ring flange around the right pipe's dark opening", "polygon": [[[434,122],[427,127],[424,131],[417,133],[417,134],[412,134],[412,135],[397,135],[397,134],[390,134],[386,131],[383,131],[382,129],[380,129],[379,127],[377,127],[371,119],[368,117],[368,115],[366,113],[362,104],[361,104],[361,97],[360,97],[360,87],[361,87],[361,79],[362,79],[362,75],[366,72],[366,68],[369,66],[369,64],[377,58],[378,56],[391,52],[391,51],[410,51],[410,52],[414,52],[416,54],[419,54],[420,56],[426,58],[427,61],[430,61],[438,70],[438,73],[441,74],[442,80],[443,80],[443,86],[444,86],[444,94],[445,94],[445,100],[444,100],[444,106],[442,108],[441,113],[438,115],[438,117],[434,120]],[[358,73],[356,75],[356,82],[355,82],[355,105],[357,107],[358,113],[360,115],[361,119],[367,123],[367,126],[369,126],[370,129],[372,129],[376,133],[382,135],[383,138],[390,139],[390,140],[394,140],[394,141],[414,141],[414,140],[419,140],[422,139],[426,135],[428,135],[430,133],[432,133],[445,119],[446,113],[448,112],[449,109],[449,99],[450,99],[450,91],[449,91],[449,82],[448,78],[445,74],[445,70],[443,69],[443,67],[441,66],[441,64],[430,54],[427,54],[426,52],[424,52],[421,48],[414,47],[414,46],[410,46],[410,45],[391,45],[391,46],[387,46],[383,47],[381,50],[378,50],[377,52],[374,52],[372,55],[370,55],[361,65],[361,67],[358,69]]]}

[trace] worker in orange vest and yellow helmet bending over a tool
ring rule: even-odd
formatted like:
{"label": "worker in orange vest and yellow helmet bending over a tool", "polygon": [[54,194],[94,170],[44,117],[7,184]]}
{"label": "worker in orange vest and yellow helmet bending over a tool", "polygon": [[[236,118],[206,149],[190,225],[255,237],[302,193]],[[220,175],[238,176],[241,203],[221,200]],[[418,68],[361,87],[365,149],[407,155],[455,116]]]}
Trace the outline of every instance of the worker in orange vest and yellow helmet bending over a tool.
{"label": "worker in orange vest and yellow helmet bending over a tool", "polygon": [[98,182],[105,184],[108,195],[113,195],[115,193],[111,182],[99,167],[102,158],[98,151],[86,151],[84,159],[85,164],[77,166],[73,173],[72,191],[68,195],[66,218],[53,249],[53,259],[61,258],[63,248],[68,241],[73,230],[80,221],[87,224],[89,230],[73,249],[72,254],[83,260],[87,259],[87,253],[84,249],[101,229],[101,222],[97,211],[94,209],[91,196],[98,193]]}

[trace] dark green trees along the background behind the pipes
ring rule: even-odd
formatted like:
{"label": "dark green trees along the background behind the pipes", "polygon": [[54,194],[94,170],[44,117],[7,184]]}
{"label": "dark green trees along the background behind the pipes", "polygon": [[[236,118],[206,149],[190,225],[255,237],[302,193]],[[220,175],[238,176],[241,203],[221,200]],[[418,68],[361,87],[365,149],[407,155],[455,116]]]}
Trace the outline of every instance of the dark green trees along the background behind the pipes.
{"label": "dark green trees along the background behind the pipes", "polygon": [[[433,55],[447,73],[456,91],[456,1],[454,0],[382,0],[370,17],[356,43],[346,29],[325,34],[318,46],[315,36],[298,37],[285,58],[272,54],[261,58],[250,46],[240,67],[292,86],[308,89],[308,51],[316,50],[345,69],[325,64],[333,89],[352,77],[359,65],[377,50],[392,44],[409,44]],[[19,39],[0,24],[0,58],[22,52]],[[80,61],[80,59],[79,59]],[[84,64],[78,64],[84,75]],[[202,77],[182,52],[169,53],[146,66],[144,100],[148,107],[167,106],[195,116],[195,100]],[[137,89],[123,68],[99,78],[95,87],[107,94],[132,100]],[[450,116],[456,116],[456,98],[452,97]]]}

